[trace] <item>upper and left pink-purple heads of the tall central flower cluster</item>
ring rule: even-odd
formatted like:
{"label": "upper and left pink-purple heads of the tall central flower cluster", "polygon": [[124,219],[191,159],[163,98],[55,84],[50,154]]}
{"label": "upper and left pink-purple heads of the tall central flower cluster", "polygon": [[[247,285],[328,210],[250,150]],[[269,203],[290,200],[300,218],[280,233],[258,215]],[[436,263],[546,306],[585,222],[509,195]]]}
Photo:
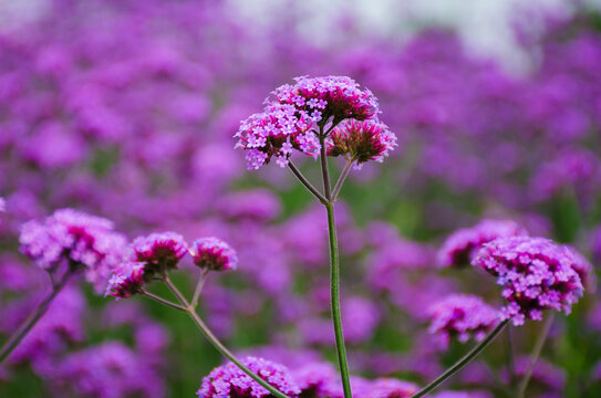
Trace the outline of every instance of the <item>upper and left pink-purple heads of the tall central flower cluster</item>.
{"label": "upper and left pink-purple heads of the tall central flower cluster", "polygon": [[348,118],[376,119],[380,113],[375,96],[345,76],[301,76],[296,84],[284,84],[271,94],[263,112],[242,121],[235,135],[236,147],[248,150],[249,170],[272,157],[284,167],[293,149],[315,158],[321,143],[312,127],[329,122],[334,126]]}

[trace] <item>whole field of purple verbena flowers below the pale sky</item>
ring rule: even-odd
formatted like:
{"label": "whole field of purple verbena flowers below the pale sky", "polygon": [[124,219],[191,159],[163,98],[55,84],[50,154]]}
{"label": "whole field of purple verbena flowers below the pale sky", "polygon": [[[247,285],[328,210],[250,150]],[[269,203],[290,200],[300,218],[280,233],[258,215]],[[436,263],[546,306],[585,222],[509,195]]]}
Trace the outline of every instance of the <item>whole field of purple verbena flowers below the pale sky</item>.
{"label": "whole field of purple verbena flowers below the pale sky", "polygon": [[[517,397],[525,378],[525,397],[600,396],[600,10],[516,19],[530,66],[516,73],[434,24],[358,40],[341,12],[323,46],[293,29],[294,7],[256,30],[229,2],[46,3],[0,29],[0,344],[61,285],[59,261],[94,272],[65,276],[0,365],[0,396],[218,397],[215,379],[243,379],[229,396],[271,397],[143,297],[169,296],[151,284],[165,266],[190,297],[206,275],[198,313],[253,371],[343,397],[328,220],[289,172],[320,186],[309,128],[330,114],[333,181],[349,171],[335,226],[354,396],[411,397],[499,318],[432,397]],[[300,107],[302,127],[266,127]]]}

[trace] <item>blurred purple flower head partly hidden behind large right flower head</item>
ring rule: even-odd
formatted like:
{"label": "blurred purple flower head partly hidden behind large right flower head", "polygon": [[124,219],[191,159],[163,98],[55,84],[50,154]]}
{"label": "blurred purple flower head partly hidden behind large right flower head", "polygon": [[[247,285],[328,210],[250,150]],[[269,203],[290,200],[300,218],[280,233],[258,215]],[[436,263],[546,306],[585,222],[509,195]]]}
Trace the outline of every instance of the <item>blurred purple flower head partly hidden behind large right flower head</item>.
{"label": "blurred purple flower head partly hidden behind large right flower head", "polygon": [[472,228],[462,228],[447,238],[437,254],[442,268],[463,266],[478,249],[497,238],[527,235],[528,232],[510,220],[484,220]]}

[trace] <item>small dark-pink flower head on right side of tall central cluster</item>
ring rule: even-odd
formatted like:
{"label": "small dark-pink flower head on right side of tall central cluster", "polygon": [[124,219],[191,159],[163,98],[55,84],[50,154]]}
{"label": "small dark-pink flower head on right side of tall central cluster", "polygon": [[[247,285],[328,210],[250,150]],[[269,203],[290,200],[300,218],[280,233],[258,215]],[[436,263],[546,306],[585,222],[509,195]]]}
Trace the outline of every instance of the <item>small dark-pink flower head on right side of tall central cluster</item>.
{"label": "small dark-pink flower head on right side of tall central cluster", "polygon": [[383,161],[396,146],[396,136],[379,122],[350,121],[330,134],[328,156],[343,156],[361,166],[369,160]]}

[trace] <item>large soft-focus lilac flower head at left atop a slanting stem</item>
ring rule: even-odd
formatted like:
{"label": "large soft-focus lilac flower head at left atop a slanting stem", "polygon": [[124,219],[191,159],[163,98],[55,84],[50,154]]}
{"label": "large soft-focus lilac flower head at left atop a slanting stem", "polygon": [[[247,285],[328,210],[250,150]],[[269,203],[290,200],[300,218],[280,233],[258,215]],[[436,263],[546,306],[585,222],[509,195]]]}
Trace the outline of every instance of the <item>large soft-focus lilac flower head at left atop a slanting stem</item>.
{"label": "large soft-focus lilac flower head at left atop a slanting stem", "polygon": [[82,268],[96,287],[106,283],[126,249],[125,237],[113,230],[112,221],[73,209],[24,223],[20,242],[21,251],[41,269],[52,272],[66,261]]}

